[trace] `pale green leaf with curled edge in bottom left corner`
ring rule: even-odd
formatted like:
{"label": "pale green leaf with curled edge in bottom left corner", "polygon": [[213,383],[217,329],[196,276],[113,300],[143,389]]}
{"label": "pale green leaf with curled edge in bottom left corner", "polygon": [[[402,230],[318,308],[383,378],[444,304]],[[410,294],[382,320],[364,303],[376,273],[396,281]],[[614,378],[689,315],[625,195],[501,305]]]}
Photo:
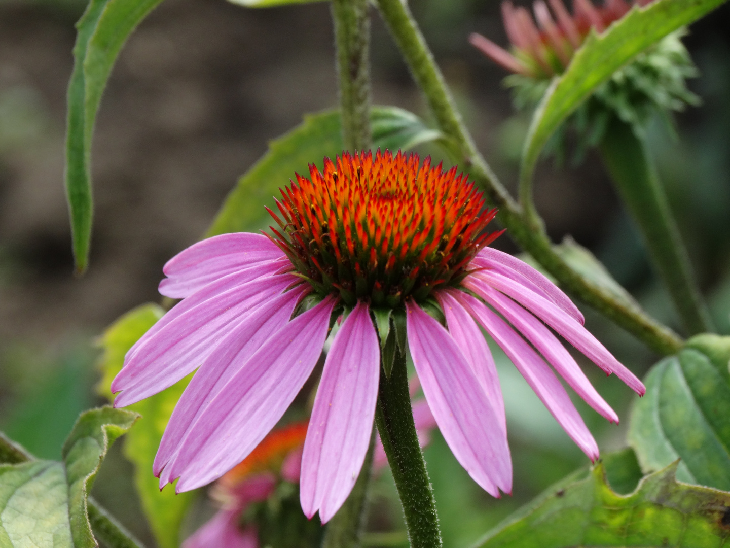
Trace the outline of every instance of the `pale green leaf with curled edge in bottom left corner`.
{"label": "pale green leaf with curled edge in bottom left corner", "polygon": [[0,547],[98,547],[88,493],[109,446],[137,417],[110,407],[85,411],[66,439],[63,463],[26,460],[23,449],[0,439],[7,461],[0,464]]}

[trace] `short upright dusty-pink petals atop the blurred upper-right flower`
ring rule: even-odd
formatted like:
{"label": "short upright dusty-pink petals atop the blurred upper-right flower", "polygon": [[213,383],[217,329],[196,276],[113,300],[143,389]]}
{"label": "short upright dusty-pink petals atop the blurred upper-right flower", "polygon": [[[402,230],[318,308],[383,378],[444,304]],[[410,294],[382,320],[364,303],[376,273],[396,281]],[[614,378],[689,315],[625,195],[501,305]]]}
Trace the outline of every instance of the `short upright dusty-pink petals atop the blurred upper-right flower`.
{"label": "short upright dusty-pink petals atop the blurred upper-right flower", "polygon": [[[634,3],[643,6],[650,1],[635,0]],[[515,8],[510,0],[502,2],[502,19],[511,52],[477,33],[469,37],[469,42],[510,72],[548,78],[566,69],[591,28],[603,32],[631,8],[626,0],[604,0],[602,7],[594,6],[591,0],[574,0],[571,15],[563,0],[550,0],[552,13],[544,0],[537,0],[532,6],[537,26],[526,8]]]}

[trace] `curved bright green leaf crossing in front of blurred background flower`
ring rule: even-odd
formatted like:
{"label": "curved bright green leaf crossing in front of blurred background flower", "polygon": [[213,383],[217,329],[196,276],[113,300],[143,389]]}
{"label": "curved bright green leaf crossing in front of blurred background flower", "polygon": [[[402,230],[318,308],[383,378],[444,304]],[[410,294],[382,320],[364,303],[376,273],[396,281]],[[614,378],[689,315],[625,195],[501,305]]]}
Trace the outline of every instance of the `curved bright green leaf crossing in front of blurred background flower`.
{"label": "curved bright green leaf crossing in front of blurred background flower", "polygon": [[535,110],[523,148],[520,180],[531,180],[550,135],[599,85],[642,50],[701,18],[723,1],[656,0],[646,7],[634,6],[602,34],[591,31]]}

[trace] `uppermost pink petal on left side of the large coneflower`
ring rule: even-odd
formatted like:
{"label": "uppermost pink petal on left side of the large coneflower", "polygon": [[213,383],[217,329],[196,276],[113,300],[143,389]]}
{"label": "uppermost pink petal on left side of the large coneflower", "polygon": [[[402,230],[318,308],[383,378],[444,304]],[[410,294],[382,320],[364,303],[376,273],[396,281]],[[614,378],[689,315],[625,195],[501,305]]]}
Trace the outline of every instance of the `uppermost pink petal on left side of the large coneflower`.
{"label": "uppermost pink petal on left side of the large coneflower", "polygon": [[160,283],[160,292],[176,299],[188,297],[224,275],[282,258],[283,251],[262,234],[213,236],[194,243],[166,262],[162,271],[167,279]]}

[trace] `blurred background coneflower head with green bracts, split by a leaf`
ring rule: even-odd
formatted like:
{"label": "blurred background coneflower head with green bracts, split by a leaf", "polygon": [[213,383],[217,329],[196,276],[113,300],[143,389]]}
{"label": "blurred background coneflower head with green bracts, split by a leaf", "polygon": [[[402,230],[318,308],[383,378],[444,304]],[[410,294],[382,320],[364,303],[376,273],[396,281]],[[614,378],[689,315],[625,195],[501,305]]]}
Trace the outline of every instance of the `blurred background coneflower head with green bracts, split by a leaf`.
{"label": "blurred background coneflower head with green bracts, split by a leaf", "polygon": [[[634,0],[633,4],[645,6],[650,1]],[[604,0],[600,7],[592,0],[573,0],[571,14],[563,0],[549,0],[549,4],[535,0],[533,20],[525,7],[502,1],[509,51],[481,34],[469,37],[480,52],[512,72],[504,83],[514,91],[518,109],[539,102],[550,80],[564,72],[591,31],[604,32],[632,7],[626,0]],[[680,29],[667,35],[593,91],[570,122],[584,137],[580,145],[598,144],[611,116],[618,116],[640,131],[657,112],[667,115],[683,110],[686,104],[698,104],[699,98],[685,83],[698,71],[681,42],[684,34],[685,30]]]}

